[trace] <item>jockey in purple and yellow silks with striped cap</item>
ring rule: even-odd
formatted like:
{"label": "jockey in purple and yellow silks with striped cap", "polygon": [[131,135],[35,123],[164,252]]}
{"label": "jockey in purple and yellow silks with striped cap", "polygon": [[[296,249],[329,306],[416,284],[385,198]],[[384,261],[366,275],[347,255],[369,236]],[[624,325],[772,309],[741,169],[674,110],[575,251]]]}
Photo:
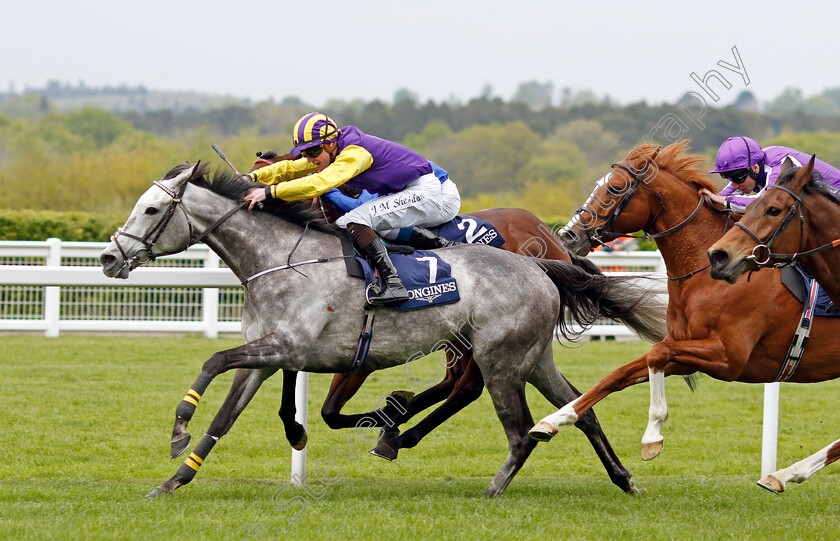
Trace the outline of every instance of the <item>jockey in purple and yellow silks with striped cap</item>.
{"label": "jockey in purple and yellow silks with striped cap", "polygon": [[423,229],[446,223],[458,214],[461,197],[455,183],[439,180],[429,160],[397,143],[367,135],[355,126],[338,129],[333,120],[309,113],[295,125],[293,155],[248,175],[267,184],[245,195],[249,209],[268,198],[287,201],[318,197],[341,185],[367,190],[378,196],[336,220],[346,228],[382,277],[382,290],[370,297],[372,304],[408,300],[391,263],[381,233],[396,238],[399,230],[414,226],[409,244],[439,248],[452,243]]}

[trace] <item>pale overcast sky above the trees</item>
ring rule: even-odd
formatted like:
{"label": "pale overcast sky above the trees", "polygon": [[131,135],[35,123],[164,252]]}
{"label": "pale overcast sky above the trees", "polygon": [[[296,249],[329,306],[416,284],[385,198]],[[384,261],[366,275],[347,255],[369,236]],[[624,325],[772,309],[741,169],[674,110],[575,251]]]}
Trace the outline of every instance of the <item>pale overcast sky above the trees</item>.
{"label": "pale overcast sky above the trees", "polygon": [[[758,7],[760,6],[760,7]],[[620,103],[674,101],[715,69],[718,103],[840,86],[840,3],[735,0],[7,2],[0,91],[48,80],[307,103],[407,88],[509,99],[536,80]],[[737,66],[743,76],[718,62]],[[13,86],[12,86],[13,85]],[[708,96],[708,94],[704,94]],[[709,100],[709,98],[707,98]],[[711,101],[711,100],[709,100]]]}

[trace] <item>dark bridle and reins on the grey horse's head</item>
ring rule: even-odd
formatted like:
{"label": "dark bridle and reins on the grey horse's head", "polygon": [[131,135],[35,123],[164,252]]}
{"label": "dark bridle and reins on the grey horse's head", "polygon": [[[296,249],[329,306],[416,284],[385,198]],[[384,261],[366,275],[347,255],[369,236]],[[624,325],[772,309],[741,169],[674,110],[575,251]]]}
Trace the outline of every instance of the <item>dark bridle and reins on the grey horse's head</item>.
{"label": "dark bridle and reins on the grey horse's head", "polygon": [[[184,210],[183,206],[181,206],[181,200],[183,198],[184,191],[187,189],[188,182],[183,183],[183,185],[181,186],[181,189],[178,191],[178,193],[175,193],[172,189],[170,189],[168,186],[166,186],[163,183],[162,180],[156,180],[152,184],[154,186],[157,186],[161,190],[163,190],[163,192],[166,195],[168,195],[171,199],[170,202],[169,202],[169,206],[166,208],[166,211],[164,212],[163,217],[160,219],[160,221],[158,223],[156,223],[155,226],[152,227],[143,236],[134,235],[132,233],[129,233],[129,232],[123,230],[122,227],[117,229],[117,232],[114,233],[113,236],[111,236],[111,240],[117,246],[117,250],[119,250],[120,255],[122,255],[122,257],[123,257],[123,267],[128,266],[129,271],[134,270],[135,268],[139,267],[140,265],[144,265],[144,264],[146,264],[150,261],[154,261],[155,259],[157,259],[159,257],[183,252],[184,250],[186,250],[187,248],[189,248],[193,244],[197,244],[198,242],[201,242],[201,240],[204,239],[204,237],[206,237],[211,231],[216,229],[222,222],[224,222],[225,220],[230,218],[239,209],[248,205],[247,201],[243,201],[242,203],[240,203],[239,205],[235,206],[234,208],[229,210],[227,213],[225,213],[221,218],[219,218],[218,220],[216,220],[215,222],[210,224],[210,226],[208,226],[207,229],[205,229],[200,235],[193,238],[194,228],[193,228],[192,222],[190,221],[190,217],[187,214],[187,212]],[[171,250],[171,251],[168,251],[168,252],[155,252],[154,251],[155,243],[158,241],[160,236],[163,234],[164,230],[169,225],[169,222],[175,216],[175,212],[177,210],[180,210],[183,213],[184,220],[186,220],[186,222],[187,222],[188,234],[187,234],[187,241],[186,241],[185,245],[181,248]],[[134,253],[134,256],[128,257],[128,255],[126,254],[122,245],[120,244],[120,241],[119,241],[120,237],[128,237],[130,239],[136,240],[137,242],[139,242],[140,244],[143,245],[143,248],[140,249],[140,250],[137,250]]]}

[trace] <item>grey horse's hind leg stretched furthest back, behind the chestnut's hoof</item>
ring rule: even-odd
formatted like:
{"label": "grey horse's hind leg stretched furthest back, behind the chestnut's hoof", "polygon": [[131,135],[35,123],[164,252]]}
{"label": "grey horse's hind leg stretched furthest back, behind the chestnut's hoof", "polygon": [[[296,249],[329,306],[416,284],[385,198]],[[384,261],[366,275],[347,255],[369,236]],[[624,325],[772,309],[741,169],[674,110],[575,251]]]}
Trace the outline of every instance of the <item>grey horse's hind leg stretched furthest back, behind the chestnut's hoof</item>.
{"label": "grey horse's hind leg stretched furthest back, behind the chestnut's hoof", "polygon": [[[528,382],[536,387],[549,402],[557,407],[561,407],[580,396],[580,391],[555,367],[551,347],[548,348],[544,358],[534,368],[534,371],[528,378]],[[621,463],[612,445],[610,445],[607,435],[604,434],[604,430],[601,428],[601,423],[598,422],[598,418],[595,416],[595,412],[591,409],[586,411],[575,422],[575,426],[586,434],[589,443],[607,470],[607,475],[610,476],[613,484],[628,494],[639,492],[639,489],[633,483],[630,472]]]}

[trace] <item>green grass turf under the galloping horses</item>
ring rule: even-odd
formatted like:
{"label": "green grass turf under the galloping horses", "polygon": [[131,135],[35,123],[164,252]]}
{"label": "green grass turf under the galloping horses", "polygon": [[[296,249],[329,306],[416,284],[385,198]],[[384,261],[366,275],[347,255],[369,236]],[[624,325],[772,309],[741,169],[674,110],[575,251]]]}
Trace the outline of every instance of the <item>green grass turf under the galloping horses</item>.
{"label": "green grass turf under the galloping horses", "polygon": [[[840,532],[840,470],[829,466],[780,496],[758,488],[763,387],[708,377],[696,393],[680,378],[666,380],[665,451],[651,462],[639,459],[647,384],[596,406],[619,456],[646,489],[636,496],[610,483],[579,431],[564,429],[537,446],[505,494],[483,498],[506,455],[486,393],[396,461],[375,458],[363,435],[330,431],[320,420],[330,376],[313,374],[309,471],[317,463],[331,466],[324,476],[335,476],[333,484],[313,478],[312,494],[288,487],[278,375],[191,484],[172,497],[146,499],[183,461],[168,458],[175,406],[210,354],[239,344],[198,337],[0,337],[0,538],[767,540],[836,539]],[[589,342],[558,346],[555,359],[586,390],[648,348]],[[417,380],[432,380],[437,369],[432,358],[412,368]],[[190,424],[194,444],[230,380],[230,374],[218,378],[202,398]],[[840,437],[838,386],[782,387],[779,467]],[[401,388],[422,390],[399,368],[374,374],[345,411],[367,411]],[[554,411],[534,389],[529,402],[535,419]],[[258,537],[249,537],[256,524]]]}

